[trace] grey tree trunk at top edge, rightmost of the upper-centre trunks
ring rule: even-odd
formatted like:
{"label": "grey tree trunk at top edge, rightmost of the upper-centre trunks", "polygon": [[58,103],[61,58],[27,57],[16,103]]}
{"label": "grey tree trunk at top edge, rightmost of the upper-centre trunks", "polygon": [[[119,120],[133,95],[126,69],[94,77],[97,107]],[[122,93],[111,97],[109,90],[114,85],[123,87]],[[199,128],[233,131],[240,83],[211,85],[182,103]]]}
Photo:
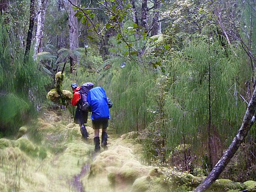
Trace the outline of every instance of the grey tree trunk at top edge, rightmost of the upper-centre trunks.
{"label": "grey tree trunk at top edge, rightmost of the upper-centre trunks", "polygon": [[161,34],[161,22],[159,22],[159,9],[161,5],[161,1],[154,0],[151,36]]}

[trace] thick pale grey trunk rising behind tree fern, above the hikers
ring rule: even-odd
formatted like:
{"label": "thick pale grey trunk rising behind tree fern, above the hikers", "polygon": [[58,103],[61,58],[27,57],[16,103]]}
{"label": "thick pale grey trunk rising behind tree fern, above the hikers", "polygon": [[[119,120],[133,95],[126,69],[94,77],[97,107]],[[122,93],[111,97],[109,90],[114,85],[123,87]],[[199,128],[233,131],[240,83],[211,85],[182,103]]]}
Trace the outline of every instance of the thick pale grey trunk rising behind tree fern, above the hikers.
{"label": "thick pale grey trunk rising behind tree fern, above the hikers", "polygon": [[[78,5],[78,0],[68,1],[68,26],[69,26],[69,48],[74,50],[78,48],[78,17],[75,17],[75,10],[72,8],[74,5]],[[70,59],[70,73],[73,71],[74,62],[76,58]]]}

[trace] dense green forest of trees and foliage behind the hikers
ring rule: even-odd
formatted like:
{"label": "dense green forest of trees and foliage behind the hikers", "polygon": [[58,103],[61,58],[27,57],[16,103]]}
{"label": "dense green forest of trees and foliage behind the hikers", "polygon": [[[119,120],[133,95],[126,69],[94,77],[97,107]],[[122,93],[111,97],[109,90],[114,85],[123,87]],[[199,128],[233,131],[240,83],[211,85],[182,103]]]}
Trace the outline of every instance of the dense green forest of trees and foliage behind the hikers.
{"label": "dense green forest of trees and foliage behind the hikers", "polygon": [[255,111],[255,1],[2,0],[0,11],[0,138],[49,107],[72,114],[46,99],[62,71],[61,90],[105,88],[111,127],[141,133],[145,163],[208,175],[246,128],[220,177],[255,180],[255,125],[242,124]]}

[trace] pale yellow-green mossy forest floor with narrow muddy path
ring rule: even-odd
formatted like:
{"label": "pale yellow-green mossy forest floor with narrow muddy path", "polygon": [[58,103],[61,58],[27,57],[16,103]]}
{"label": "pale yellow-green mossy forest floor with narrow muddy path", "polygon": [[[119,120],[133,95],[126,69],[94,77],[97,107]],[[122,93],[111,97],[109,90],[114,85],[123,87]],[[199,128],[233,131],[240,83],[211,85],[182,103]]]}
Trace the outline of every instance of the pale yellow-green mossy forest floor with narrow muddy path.
{"label": "pale yellow-green mossy forest floor with narrow muddy path", "polygon": [[[0,191],[189,191],[203,181],[188,173],[143,164],[142,147],[134,133],[116,136],[110,126],[108,150],[94,153],[90,120],[87,140],[67,111],[45,111],[38,120],[38,131],[22,127],[16,139],[0,139]],[[232,191],[246,189],[245,184],[231,181],[228,186],[239,189]]]}

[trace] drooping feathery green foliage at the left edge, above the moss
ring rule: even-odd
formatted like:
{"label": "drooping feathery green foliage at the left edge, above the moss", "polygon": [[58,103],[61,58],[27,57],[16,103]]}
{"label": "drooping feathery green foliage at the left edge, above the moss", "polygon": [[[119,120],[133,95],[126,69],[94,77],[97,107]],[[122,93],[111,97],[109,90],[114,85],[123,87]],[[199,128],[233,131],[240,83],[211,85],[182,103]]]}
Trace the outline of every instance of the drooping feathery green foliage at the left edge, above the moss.
{"label": "drooping feathery green foliage at the left edge, above the moss", "polygon": [[0,130],[14,135],[24,123],[31,122],[35,110],[45,100],[47,76],[32,58],[23,61],[20,41],[9,33],[11,26],[0,18]]}

